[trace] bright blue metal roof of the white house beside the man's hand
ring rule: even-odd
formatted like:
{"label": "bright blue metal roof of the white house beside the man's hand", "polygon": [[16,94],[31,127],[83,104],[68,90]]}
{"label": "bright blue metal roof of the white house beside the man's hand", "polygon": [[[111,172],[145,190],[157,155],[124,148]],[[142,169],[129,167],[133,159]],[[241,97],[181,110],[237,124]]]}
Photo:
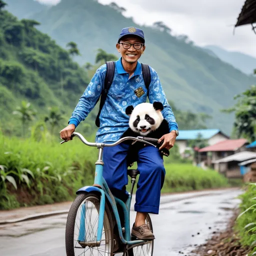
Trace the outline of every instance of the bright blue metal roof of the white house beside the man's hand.
{"label": "bright blue metal roof of the white house beside the man's hand", "polygon": [[179,135],[176,137],[176,140],[195,139],[198,137],[199,133],[203,139],[208,139],[218,132],[220,132],[219,129],[179,130]]}

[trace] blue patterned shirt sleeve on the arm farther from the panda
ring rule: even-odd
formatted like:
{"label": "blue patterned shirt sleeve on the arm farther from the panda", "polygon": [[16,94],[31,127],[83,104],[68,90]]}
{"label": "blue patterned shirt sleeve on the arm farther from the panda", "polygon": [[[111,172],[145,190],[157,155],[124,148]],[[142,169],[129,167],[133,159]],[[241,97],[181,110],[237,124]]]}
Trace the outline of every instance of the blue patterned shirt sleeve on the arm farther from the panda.
{"label": "blue patterned shirt sleeve on the arm farther from the panda", "polygon": [[102,91],[105,73],[105,64],[100,66],[96,70],[95,74],[91,78],[90,83],[86,87],[76,107],[74,108],[72,115],[68,121],[69,124],[73,123],[76,127],[82,120],[84,120],[87,117],[89,112],[95,106]]}

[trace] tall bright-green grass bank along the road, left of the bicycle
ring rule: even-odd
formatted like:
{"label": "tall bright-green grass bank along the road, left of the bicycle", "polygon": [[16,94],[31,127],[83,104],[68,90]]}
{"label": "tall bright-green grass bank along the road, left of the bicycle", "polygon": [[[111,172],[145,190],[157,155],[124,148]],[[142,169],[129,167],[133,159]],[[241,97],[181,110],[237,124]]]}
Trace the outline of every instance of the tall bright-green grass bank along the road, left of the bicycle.
{"label": "tall bright-green grass bank along the road, left of the bicycle", "polygon": [[92,184],[96,154],[77,139],[60,145],[0,135],[0,209],[73,199]]}

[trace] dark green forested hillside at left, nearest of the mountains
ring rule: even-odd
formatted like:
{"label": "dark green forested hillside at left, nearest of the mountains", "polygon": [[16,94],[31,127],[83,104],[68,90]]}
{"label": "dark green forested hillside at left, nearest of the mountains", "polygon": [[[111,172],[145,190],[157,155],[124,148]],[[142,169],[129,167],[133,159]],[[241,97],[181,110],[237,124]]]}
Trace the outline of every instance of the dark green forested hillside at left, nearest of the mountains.
{"label": "dark green forested hillside at left, nearest of the mountains", "polygon": [[7,134],[20,134],[20,121],[11,113],[21,100],[29,101],[38,117],[57,106],[68,118],[89,82],[68,51],[36,25],[0,9],[0,127]]}

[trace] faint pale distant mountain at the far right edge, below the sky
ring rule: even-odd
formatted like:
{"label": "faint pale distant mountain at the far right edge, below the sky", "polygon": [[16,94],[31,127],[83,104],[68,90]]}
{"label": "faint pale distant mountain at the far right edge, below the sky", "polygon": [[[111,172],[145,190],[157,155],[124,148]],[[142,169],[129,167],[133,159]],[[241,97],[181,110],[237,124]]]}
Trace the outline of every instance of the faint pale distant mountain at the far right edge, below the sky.
{"label": "faint pale distant mountain at the far right edge, below the sky", "polygon": [[207,45],[204,48],[244,73],[251,74],[256,68],[256,58],[250,55],[238,51],[228,51],[216,45]]}

